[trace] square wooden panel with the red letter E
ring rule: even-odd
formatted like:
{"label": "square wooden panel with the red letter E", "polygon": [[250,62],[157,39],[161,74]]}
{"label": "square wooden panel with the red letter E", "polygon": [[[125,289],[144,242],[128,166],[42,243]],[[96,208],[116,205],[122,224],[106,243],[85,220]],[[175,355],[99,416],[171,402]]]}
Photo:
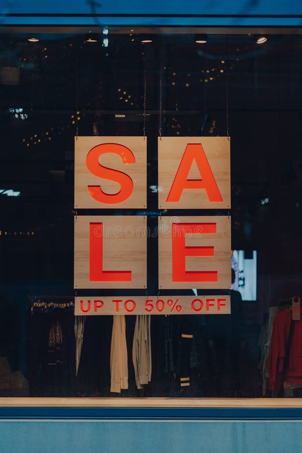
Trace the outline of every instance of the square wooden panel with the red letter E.
{"label": "square wooden panel with the red letter E", "polygon": [[159,218],[159,288],[231,287],[231,218]]}

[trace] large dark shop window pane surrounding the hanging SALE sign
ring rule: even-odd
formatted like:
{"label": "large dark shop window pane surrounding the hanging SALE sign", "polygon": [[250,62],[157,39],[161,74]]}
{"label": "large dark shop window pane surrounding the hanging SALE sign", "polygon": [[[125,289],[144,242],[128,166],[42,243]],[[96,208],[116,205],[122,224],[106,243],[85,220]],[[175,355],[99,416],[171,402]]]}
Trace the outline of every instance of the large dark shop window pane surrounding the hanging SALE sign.
{"label": "large dark shop window pane surrounding the hanging SALE sign", "polygon": [[[301,296],[301,36],[269,34],[257,44],[250,33],[217,30],[198,44],[183,29],[88,32],[2,28],[0,395],[117,395],[110,392],[112,316],[87,317],[84,334],[78,324],[74,334],[74,136],[141,136],[145,128],[147,208],[102,214],[144,214],[154,233],[160,215],[173,215],[158,209],[160,133],[229,133],[232,208],[177,215],[230,214],[237,292],[231,315],[151,316],[152,376],[141,389],[132,362],[136,317],[127,315],[121,396],[270,397],[284,383],[280,395],[298,396],[302,328],[295,320],[290,329],[290,319],[291,298]],[[159,292],[156,235],[147,239],[147,265],[146,290],[78,295],[193,294]]]}

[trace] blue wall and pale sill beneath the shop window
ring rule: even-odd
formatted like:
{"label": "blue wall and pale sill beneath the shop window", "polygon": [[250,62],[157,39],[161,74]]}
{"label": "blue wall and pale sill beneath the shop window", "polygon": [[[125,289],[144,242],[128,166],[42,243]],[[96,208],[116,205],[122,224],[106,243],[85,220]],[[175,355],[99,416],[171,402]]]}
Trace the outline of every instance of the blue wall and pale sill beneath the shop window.
{"label": "blue wall and pale sill beneath the shop window", "polygon": [[[0,449],[5,453],[69,453],[70,448],[73,453],[300,450],[302,404],[298,400],[161,401],[174,407],[113,407],[118,399],[82,400],[81,407],[70,407],[75,401],[61,400],[58,407],[58,401],[45,399],[44,407],[3,407],[9,406],[4,400],[0,402]],[[34,404],[32,399],[24,401]],[[137,406],[159,402],[144,400]],[[52,404],[57,407],[46,407]],[[104,404],[107,407],[100,406]],[[180,404],[183,407],[177,407]],[[219,404],[224,407],[214,407]],[[246,407],[240,407],[243,404]]]}

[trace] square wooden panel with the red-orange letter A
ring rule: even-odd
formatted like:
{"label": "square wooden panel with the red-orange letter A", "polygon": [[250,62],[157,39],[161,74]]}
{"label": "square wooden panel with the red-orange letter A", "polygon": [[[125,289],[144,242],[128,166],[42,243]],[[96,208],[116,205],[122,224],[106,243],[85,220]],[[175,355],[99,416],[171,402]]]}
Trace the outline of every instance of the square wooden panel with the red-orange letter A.
{"label": "square wooden panel with the red-orange letter A", "polygon": [[158,140],[159,209],[231,207],[228,137]]}

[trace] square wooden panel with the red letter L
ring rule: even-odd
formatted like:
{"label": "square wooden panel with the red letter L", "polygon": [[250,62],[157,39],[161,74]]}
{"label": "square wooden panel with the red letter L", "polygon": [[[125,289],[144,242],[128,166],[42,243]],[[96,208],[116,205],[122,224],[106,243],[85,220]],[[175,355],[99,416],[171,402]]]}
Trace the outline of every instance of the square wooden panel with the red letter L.
{"label": "square wooden panel with the red letter L", "polygon": [[74,219],[74,288],[145,288],[147,221],[141,215]]}

